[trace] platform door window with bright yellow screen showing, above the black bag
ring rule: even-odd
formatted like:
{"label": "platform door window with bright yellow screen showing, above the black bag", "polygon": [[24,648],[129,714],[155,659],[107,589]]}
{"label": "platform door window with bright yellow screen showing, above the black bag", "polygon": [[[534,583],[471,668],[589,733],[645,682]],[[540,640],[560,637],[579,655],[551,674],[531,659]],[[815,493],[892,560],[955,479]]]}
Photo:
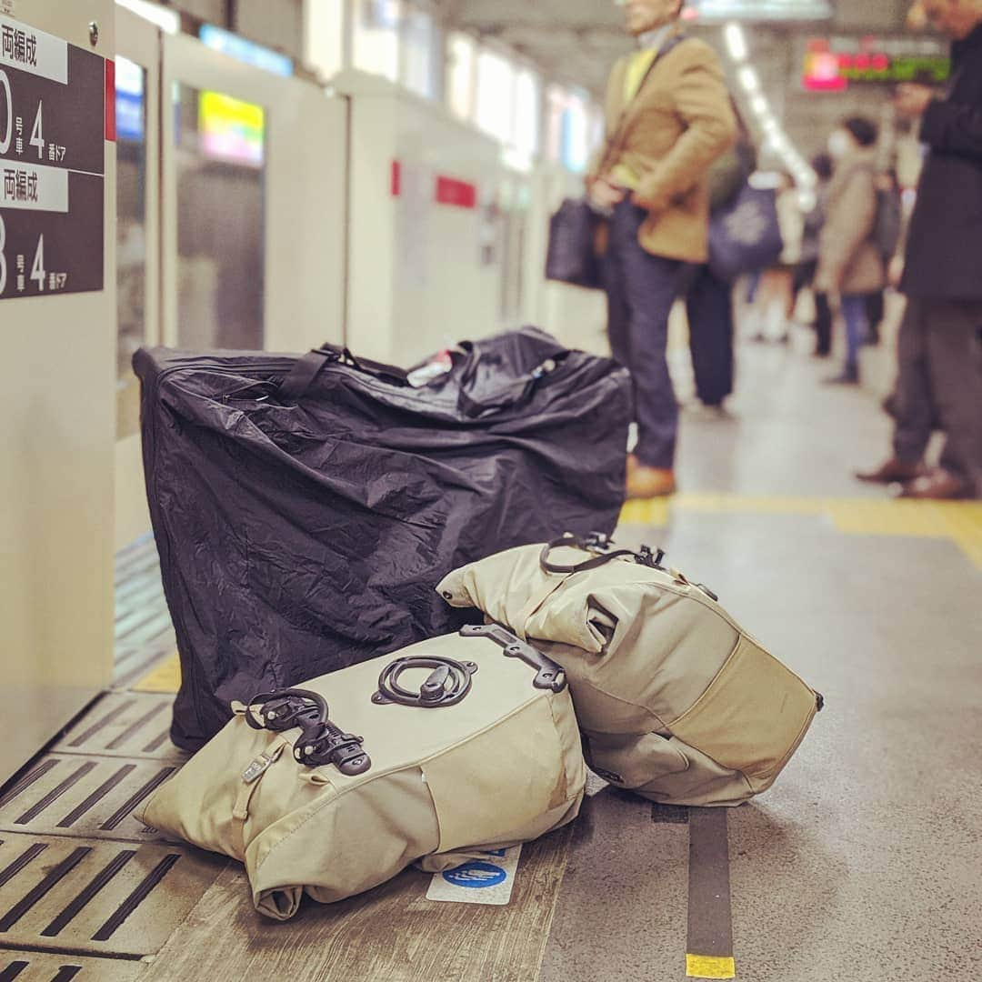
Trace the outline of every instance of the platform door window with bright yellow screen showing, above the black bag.
{"label": "platform door window with bright yellow screen showing, above the black bag", "polygon": [[178,343],[263,347],[265,112],[176,86]]}

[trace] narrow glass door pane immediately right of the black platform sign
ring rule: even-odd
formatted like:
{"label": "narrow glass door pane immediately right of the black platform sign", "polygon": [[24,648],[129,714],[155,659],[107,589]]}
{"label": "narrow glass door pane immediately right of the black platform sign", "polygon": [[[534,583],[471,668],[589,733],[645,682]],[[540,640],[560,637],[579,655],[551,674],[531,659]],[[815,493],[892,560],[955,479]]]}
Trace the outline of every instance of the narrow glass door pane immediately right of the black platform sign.
{"label": "narrow glass door pane immediately right of the black platform sign", "polygon": [[146,341],[146,72],[116,59],[116,436],[139,430],[130,364]]}

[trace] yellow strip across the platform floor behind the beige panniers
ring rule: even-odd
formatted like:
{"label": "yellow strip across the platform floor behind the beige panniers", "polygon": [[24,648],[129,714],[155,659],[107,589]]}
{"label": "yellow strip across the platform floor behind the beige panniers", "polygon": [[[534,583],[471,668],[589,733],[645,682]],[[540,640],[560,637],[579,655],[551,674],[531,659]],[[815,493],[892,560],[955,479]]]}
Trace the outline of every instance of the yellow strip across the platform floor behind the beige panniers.
{"label": "yellow strip across the platform floor behind the beige panniers", "polygon": [[627,502],[621,521],[663,526],[675,511],[824,517],[850,535],[949,539],[982,569],[982,502],[679,494],[670,499]]}

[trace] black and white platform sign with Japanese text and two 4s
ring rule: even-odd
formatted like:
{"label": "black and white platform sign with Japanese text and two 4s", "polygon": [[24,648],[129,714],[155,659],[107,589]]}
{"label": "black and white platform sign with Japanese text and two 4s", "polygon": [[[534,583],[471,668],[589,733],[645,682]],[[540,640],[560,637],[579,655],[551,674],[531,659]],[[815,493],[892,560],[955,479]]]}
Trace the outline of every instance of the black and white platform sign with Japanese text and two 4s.
{"label": "black and white platform sign with Japanese text and two 4s", "polygon": [[0,300],[103,288],[107,77],[0,16]]}

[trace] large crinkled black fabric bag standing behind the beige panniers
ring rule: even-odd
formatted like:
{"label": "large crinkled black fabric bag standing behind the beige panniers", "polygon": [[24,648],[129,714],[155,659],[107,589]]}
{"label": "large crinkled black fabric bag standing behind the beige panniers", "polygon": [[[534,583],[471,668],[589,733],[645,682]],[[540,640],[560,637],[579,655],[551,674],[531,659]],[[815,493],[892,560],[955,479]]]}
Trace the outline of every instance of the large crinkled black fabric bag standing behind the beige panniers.
{"label": "large crinkled black fabric bag standing behind the beige panniers", "polygon": [[422,387],[315,352],[140,349],[150,518],[181,655],[174,741],[229,703],[446,634],[433,587],[559,525],[612,532],[627,371],[523,328]]}

